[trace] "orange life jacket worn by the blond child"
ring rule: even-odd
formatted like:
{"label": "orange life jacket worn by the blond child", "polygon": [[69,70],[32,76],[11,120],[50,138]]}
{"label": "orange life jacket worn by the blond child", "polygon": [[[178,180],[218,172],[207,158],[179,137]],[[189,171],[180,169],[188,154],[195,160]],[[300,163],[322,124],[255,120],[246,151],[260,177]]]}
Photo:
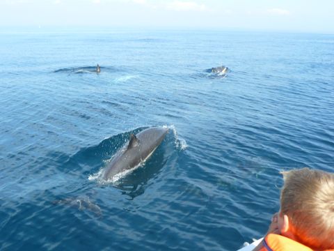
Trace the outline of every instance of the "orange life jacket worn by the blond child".
{"label": "orange life jacket worn by the blond child", "polygon": [[[313,251],[311,248],[278,234],[268,234],[260,251]],[[324,250],[334,251],[334,250]]]}

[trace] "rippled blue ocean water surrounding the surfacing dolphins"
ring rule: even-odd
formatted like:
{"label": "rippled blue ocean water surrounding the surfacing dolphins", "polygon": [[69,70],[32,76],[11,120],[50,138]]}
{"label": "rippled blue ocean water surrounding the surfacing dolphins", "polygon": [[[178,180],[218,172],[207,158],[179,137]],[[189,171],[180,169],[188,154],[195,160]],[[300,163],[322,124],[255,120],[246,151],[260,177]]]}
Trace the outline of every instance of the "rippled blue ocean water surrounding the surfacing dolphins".
{"label": "rippled blue ocean water surrounding the surfacing dolphins", "polygon": [[[237,250],[280,171],[334,171],[334,36],[1,29],[0,107],[0,250]],[[151,126],[151,158],[102,182]]]}

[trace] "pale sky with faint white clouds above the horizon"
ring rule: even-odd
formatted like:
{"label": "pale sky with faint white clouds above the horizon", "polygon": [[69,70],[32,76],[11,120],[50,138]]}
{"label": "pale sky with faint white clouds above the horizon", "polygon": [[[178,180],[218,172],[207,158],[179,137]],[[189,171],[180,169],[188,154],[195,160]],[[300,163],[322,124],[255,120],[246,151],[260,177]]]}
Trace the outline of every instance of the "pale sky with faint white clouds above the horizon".
{"label": "pale sky with faint white clouds above the horizon", "polygon": [[0,26],[334,33],[333,0],[0,0]]}

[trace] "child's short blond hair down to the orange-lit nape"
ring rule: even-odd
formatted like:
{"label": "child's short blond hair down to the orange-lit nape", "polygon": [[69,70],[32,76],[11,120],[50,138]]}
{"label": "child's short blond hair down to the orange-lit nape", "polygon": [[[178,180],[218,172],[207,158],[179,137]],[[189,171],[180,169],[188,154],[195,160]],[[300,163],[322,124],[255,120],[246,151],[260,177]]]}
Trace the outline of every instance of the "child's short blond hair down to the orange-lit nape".
{"label": "child's short blond hair down to the orange-lit nape", "polygon": [[334,174],[309,168],[282,172],[280,213],[296,241],[315,250],[334,248]]}

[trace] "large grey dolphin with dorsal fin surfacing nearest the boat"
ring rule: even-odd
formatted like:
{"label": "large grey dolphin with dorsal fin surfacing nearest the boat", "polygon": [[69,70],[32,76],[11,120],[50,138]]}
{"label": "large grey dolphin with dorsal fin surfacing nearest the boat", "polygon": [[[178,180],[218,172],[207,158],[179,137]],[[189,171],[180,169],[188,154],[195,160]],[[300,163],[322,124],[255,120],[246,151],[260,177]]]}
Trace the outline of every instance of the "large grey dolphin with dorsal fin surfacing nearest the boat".
{"label": "large grey dolphin with dorsal fin surfacing nearest the boat", "polygon": [[103,178],[108,180],[112,176],[132,169],[146,160],[164,140],[168,128],[148,128],[136,135],[131,135],[129,143],[120,149],[107,165]]}

